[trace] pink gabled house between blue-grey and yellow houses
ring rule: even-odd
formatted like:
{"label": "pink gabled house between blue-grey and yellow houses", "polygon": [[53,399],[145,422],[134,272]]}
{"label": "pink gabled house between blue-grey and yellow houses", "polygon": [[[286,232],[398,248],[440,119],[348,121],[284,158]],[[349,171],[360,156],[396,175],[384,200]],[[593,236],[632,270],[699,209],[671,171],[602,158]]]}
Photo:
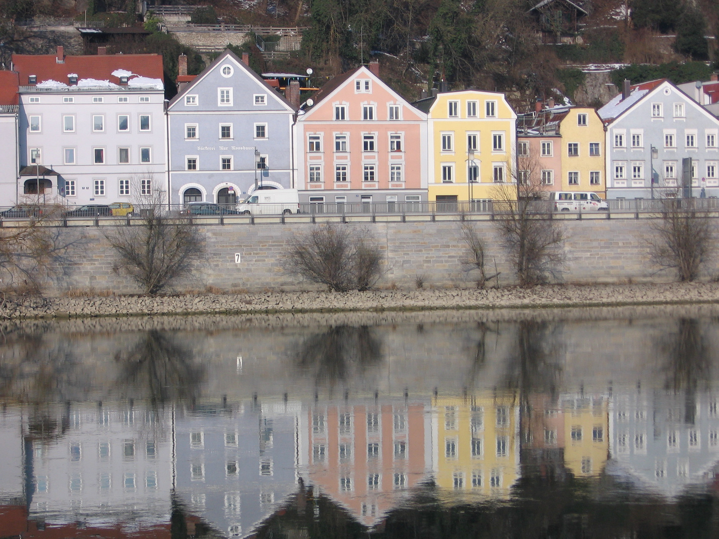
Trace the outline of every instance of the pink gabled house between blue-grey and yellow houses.
{"label": "pink gabled house between blue-grey and yellow houses", "polygon": [[300,114],[301,202],[427,199],[427,116],[379,77],[379,63],[338,75]]}

